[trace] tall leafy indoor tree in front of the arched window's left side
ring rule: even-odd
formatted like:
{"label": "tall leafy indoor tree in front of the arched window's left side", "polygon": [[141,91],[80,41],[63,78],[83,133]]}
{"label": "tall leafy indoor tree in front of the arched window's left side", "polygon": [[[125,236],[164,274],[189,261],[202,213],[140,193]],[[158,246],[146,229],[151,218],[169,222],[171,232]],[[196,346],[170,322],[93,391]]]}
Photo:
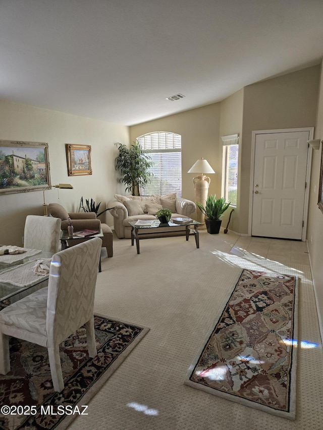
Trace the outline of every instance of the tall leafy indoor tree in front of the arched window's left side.
{"label": "tall leafy indoor tree in front of the arched window's left side", "polygon": [[150,182],[152,173],[149,168],[152,166],[152,161],[148,152],[141,148],[136,140],[130,148],[122,143],[116,143],[119,149],[119,155],[116,158],[116,170],[122,177],[120,183],[126,184],[126,191],[130,191],[133,196],[140,196],[140,187]]}

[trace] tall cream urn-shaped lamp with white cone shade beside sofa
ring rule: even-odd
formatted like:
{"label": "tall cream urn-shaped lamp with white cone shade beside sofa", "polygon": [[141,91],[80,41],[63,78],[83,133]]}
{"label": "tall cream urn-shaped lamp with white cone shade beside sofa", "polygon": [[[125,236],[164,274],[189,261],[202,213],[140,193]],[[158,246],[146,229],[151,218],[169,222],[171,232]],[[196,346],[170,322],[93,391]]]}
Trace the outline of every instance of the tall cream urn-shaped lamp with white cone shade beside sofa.
{"label": "tall cream urn-shaped lamp with white cone shade beside sofa", "polygon": [[[205,160],[204,158],[197,160],[187,173],[200,173],[200,172],[215,173],[212,167],[207,162],[207,160]],[[194,189],[195,189],[195,201],[200,203],[203,206],[205,206],[205,203],[206,203],[208,186],[211,181],[211,179],[208,176],[205,176],[204,173],[200,173],[198,176],[195,176],[193,178]],[[203,225],[201,225],[199,228],[206,228],[204,224],[205,215],[198,208],[196,208],[196,214],[197,214],[197,221],[203,223]]]}

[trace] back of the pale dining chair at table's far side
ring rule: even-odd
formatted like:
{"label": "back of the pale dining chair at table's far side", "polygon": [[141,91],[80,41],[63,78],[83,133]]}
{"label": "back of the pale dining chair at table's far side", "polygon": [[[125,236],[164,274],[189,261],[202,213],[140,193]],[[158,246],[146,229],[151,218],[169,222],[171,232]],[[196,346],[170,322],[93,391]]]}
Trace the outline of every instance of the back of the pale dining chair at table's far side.
{"label": "back of the pale dining chair at table's far side", "polygon": [[60,245],[61,220],[38,215],[27,215],[24,247],[57,253]]}

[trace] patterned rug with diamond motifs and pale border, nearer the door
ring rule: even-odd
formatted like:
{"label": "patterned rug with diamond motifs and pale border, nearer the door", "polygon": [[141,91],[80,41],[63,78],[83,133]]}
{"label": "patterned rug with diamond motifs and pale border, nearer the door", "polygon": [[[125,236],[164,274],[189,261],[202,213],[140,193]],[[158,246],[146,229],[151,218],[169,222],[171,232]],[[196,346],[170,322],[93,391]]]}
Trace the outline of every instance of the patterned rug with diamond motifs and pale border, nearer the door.
{"label": "patterned rug with diamond motifs and pale border, nearer the door", "polygon": [[295,419],[297,287],[294,276],[244,269],[185,383]]}

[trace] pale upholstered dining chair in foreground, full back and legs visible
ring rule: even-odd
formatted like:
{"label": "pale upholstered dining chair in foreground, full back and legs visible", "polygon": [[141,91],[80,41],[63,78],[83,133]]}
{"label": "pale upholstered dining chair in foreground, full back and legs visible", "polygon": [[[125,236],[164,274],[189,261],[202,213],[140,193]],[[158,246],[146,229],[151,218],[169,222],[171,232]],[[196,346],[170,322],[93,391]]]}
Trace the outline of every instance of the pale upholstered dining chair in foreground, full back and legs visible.
{"label": "pale upholstered dining chair in foreground, full back and legs visible", "polygon": [[89,356],[96,355],[93,306],[101,245],[94,237],[58,252],[48,287],[0,311],[0,374],[10,372],[9,336],[47,348],[55,391],[64,388],[59,345],[84,324]]}

